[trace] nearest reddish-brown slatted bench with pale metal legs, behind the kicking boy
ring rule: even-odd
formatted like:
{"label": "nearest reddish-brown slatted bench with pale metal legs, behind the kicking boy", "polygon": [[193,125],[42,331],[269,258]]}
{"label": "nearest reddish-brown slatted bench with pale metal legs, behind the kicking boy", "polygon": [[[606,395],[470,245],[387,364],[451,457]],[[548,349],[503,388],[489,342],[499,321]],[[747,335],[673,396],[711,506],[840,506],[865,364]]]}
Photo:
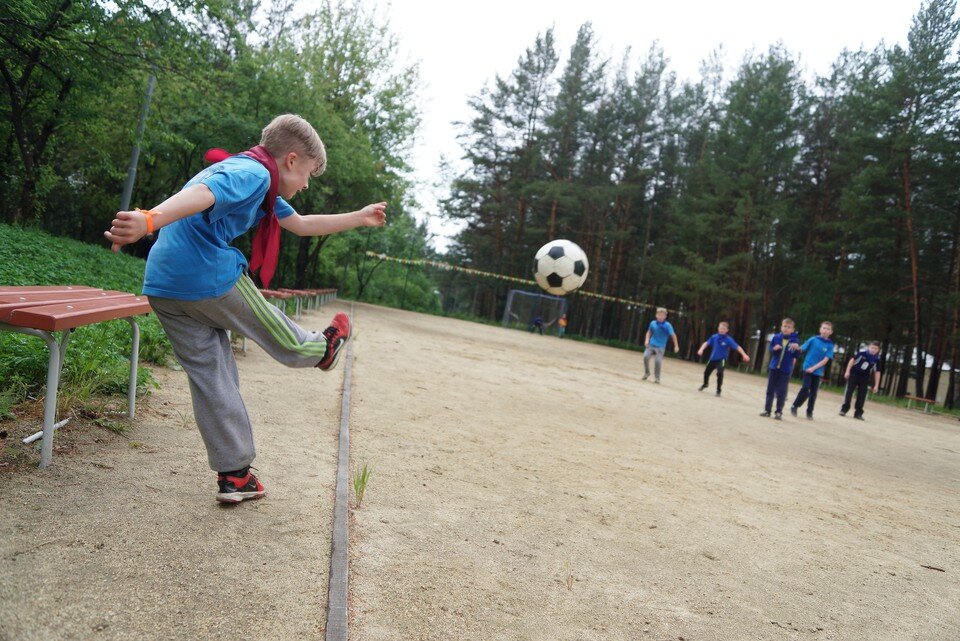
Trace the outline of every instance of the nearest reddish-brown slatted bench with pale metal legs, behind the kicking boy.
{"label": "nearest reddish-brown slatted bench with pale metal legs, behind the kicking boy", "polygon": [[[50,350],[47,362],[47,395],[43,406],[43,431],[27,437],[29,443],[43,438],[40,467],[53,458],[53,432],[66,421],[56,422],[57,390],[70,335],[77,327],[108,320],[130,323],[133,345],[130,353],[130,382],[127,415],[133,417],[137,396],[137,361],[140,355],[140,326],[135,316],[150,313],[145,296],[103,291],[78,285],[42,287],[0,287],[0,330],[42,338]],[[53,332],[62,332],[58,341]]]}

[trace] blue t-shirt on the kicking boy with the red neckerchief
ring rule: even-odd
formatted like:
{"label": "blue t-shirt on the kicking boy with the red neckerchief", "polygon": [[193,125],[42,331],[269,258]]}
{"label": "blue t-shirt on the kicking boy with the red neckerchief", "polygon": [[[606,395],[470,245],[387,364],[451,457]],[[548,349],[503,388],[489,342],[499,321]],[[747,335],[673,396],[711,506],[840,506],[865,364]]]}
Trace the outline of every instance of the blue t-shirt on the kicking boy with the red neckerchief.
{"label": "blue t-shirt on the kicking boy with the red neckerchief", "polygon": [[[260,222],[260,208],[270,187],[270,173],[246,156],[231,156],[211,165],[184,187],[206,185],[216,199],[213,206],[167,225],[147,257],[143,293],[149,296],[200,300],[226,294],[247,267],[238,236]],[[283,198],[274,206],[277,218],[294,213]]]}

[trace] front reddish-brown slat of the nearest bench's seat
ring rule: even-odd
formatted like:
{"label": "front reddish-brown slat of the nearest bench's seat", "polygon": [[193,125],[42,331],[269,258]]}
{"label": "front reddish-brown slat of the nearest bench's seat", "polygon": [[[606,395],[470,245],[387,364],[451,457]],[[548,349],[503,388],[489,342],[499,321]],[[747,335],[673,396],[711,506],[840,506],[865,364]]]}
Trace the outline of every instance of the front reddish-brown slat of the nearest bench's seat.
{"label": "front reddish-brown slat of the nearest bench's seat", "polygon": [[17,327],[32,327],[56,332],[106,320],[149,314],[151,311],[146,296],[128,294],[126,297],[109,300],[81,300],[18,309],[6,322]]}

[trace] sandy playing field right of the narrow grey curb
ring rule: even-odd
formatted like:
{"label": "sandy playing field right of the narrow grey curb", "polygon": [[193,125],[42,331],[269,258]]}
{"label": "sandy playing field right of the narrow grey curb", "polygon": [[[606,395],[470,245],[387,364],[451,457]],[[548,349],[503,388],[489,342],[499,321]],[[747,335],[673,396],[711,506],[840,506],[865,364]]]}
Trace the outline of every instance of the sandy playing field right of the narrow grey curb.
{"label": "sandy playing field right of the narrow grey curb", "polygon": [[357,312],[354,639],[960,639],[956,420]]}

